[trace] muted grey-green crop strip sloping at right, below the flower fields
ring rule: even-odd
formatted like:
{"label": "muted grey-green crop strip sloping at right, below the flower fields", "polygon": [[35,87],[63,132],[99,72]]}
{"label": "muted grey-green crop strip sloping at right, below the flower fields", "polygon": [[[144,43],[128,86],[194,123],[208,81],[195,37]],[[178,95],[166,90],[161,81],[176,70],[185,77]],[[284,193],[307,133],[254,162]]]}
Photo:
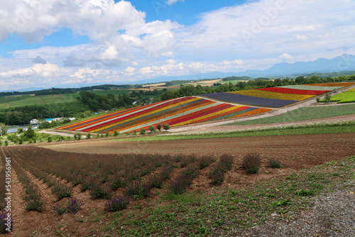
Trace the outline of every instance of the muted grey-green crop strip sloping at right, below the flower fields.
{"label": "muted grey-green crop strip sloping at right, below the flower fields", "polygon": [[295,109],[286,114],[272,116],[268,118],[256,118],[249,121],[241,121],[236,123],[228,123],[225,125],[251,125],[262,123],[283,123],[292,121],[303,121],[317,118],[330,118],[336,116],[344,116],[354,114],[355,104],[342,104],[337,106],[315,106]]}

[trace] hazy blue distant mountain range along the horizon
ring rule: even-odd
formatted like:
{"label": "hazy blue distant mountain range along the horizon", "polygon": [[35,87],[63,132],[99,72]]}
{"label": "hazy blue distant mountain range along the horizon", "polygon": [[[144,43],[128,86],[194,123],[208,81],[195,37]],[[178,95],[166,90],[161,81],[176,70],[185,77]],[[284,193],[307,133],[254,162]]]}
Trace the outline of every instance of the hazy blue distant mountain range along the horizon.
{"label": "hazy blue distant mountain range along the horizon", "polygon": [[[151,79],[144,79],[135,82],[123,82],[120,84],[146,84],[155,82],[170,82],[173,80],[196,80],[196,79],[215,79],[224,77],[286,77],[295,75],[307,75],[312,73],[329,73],[329,72],[344,72],[344,71],[355,71],[355,55],[344,54],[339,57],[334,57],[333,59],[327,60],[325,58],[318,58],[315,61],[307,62],[281,62],[269,67],[266,70],[246,70],[244,72],[208,72],[197,75],[182,75],[175,77],[155,77]],[[108,82],[108,84],[116,84],[114,82]],[[61,85],[60,88],[64,87],[83,87],[83,86],[94,86],[93,84],[77,84],[77,85]],[[53,85],[55,87],[55,85]],[[26,88],[18,89],[18,92],[34,91],[44,88]],[[9,92],[9,91],[7,91]]]}

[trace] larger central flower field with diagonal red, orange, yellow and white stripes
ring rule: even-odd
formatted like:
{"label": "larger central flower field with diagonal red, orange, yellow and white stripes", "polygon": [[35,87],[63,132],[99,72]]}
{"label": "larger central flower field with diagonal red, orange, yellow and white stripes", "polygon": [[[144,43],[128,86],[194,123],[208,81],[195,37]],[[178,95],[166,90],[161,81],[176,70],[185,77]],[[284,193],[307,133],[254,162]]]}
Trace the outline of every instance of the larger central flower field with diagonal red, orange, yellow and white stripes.
{"label": "larger central flower field with diagonal red, orange, yellow and white stripes", "polygon": [[58,129],[90,133],[106,131],[127,133],[141,128],[148,129],[151,125],[156,127],[158,123],[168,123],[170,127],[174,127],[222,118],[261,114],[270,110],[252,106],[236,106],[197,97],[182,97],[98,116]]}

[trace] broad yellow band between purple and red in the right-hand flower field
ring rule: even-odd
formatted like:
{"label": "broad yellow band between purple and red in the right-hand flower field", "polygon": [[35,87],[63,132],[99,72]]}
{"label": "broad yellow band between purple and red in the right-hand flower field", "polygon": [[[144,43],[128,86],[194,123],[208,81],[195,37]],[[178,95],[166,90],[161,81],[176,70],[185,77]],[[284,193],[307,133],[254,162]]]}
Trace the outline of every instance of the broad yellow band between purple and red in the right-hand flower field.
{"label": "broad yellow band between purple and red in the right-hand flower field", "polygon": [[228,93],[243,94],[249,97],[261,97],[261,98],[268,98],[268,99],[289,99],[289,100],[297,100],[297,101],[315,97],[314,95],[309,95],[309,94],[285,94],[285,93],[278,93],[278,92],[268,92],[259,89],[249,89],[246,91],[228,92]]}

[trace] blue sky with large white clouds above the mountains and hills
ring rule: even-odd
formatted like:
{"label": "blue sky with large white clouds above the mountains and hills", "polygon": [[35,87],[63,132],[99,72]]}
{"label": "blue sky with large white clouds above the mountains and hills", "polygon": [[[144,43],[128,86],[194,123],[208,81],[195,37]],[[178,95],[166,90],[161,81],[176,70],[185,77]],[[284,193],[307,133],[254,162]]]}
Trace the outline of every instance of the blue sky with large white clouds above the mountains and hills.
{"label": "blue sky with large white clouds above the mountains and hills", "polygon": [[0,91],[134,83],[355,54],[351,0],[16,0]]}

